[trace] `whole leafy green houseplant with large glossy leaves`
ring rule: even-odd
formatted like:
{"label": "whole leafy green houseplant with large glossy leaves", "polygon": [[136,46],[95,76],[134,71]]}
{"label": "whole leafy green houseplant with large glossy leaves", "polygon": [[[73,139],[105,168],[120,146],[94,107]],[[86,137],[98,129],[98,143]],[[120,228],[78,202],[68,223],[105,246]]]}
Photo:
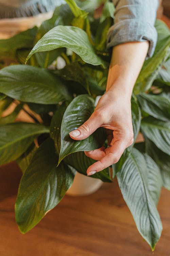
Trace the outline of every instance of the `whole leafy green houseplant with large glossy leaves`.
{"label": "whole leafy green houseplant with large glossy leaves", "polygon": [[[15,205],[22,233],[60,202],[76,170],[86,175],[94,160],[83,151],[99,148],[106,140],[102,128],[79,142],[68,136],[87,120],[96,96],[105,91],[111,57],[106,34],[114,12],[112,3],[105,1],[101,17],[94,18],[86,11],[94,10],[98,1],[76,2],[80,7],[66,0],[39,28],[0,41],[0,112],[16,103],[14,112],[0,119],[0,165],[16,160],[23,171]],[[93,175],[104,182],[117,177],[152,250],[162,231],[156,209],[161,187],[170,190],[170,32],[159,20],[155,27],[155,53],[142,67],[131,102],[134,141],[141,131],[145,142],[127,148],[112,166],[112,175],[108,168]],[[60,58],[66,64],[62,69]],[[14,122],[21,109],[35,123]]]}

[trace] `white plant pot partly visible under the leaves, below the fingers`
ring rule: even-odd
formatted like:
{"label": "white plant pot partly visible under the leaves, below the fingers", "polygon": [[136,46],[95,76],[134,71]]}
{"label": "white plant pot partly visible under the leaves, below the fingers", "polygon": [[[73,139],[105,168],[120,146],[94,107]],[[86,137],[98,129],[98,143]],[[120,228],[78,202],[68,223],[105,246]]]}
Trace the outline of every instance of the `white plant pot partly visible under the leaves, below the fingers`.
{"label": "white plant pot partly visible under the leaves, below the fingers", "polygon": [[79,172],[75,174],[72,186],[67,190],[66,195],[69,196],[86,196],[96,192],[103,182],[89,176],[85,176]]}

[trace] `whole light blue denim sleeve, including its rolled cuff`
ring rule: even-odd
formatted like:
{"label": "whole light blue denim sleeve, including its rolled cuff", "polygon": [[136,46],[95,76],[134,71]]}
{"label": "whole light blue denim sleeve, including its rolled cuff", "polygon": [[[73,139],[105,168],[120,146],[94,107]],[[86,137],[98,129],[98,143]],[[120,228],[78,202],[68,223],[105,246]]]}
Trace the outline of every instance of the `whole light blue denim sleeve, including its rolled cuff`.
{"label": "whole light blue denim sleeve, including its rolled cuff", "polygon": [[127,42],[149,41],[147,57],[152,57],[157,32],[154,27],[158,0],[113,0],[114,25],[107,34],[107,48]]}

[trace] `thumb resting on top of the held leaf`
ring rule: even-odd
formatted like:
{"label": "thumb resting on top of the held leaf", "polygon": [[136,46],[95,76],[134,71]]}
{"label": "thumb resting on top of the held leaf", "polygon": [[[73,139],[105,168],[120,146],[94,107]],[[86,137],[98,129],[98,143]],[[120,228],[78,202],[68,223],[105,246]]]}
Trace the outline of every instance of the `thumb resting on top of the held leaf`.
{"label": "thumb resting on top of the held leaf", "polygon": [[81,125],[78,129],[69,132],[69,135],[74,140],[84,140],[88,138],[100,126],[101,119],[94,112],[83,125]]}

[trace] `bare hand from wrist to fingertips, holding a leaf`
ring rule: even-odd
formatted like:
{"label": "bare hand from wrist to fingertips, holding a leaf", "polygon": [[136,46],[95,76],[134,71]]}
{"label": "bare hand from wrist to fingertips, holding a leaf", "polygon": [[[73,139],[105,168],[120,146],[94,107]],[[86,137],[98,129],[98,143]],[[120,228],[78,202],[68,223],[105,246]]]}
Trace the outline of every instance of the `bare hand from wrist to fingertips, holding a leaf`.
{"label": "bare hand from wrist to fingertips, holding a leaf", "polygon": [[74,140],[84,140],[99,127],[106,129],[108,147],[103,146],[97,150],[85,152],[86,156],[97,160],[88,167],[87,175],[92,175],[116,163],[125,148],[133,143],[131,97],[120,88],[105,93],[90,118],[69,134]]}

